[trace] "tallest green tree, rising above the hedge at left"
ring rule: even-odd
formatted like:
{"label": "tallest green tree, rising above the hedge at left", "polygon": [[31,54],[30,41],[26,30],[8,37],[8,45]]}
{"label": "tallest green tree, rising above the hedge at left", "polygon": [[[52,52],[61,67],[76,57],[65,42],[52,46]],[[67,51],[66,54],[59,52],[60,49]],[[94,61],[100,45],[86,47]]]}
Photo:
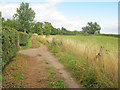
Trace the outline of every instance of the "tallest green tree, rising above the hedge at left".
{"label": "tallest green tree, rising above the hedge at left", "polygon": [[30,24],[35,18],[35,12],[32,8],[29,8],[29,3],[21,3],[20,7],[17,8],[17,13],[14,18],[20,22],[20,26],[24,32],[29,32]]}

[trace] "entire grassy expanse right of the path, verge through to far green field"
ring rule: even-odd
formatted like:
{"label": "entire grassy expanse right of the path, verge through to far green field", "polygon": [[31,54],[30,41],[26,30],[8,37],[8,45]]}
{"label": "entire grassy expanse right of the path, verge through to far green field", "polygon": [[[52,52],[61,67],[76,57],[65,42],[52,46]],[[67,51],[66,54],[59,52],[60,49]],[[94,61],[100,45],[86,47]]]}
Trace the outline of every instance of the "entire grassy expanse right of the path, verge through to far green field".
{"label": "entire grassy expanse right of the path, verge through to far green field", "polygon": [[[118,87],[118,38],[109,36],[50,36],[51,52],[85,87]],[[49,37],[48,37],[48,41]]]}

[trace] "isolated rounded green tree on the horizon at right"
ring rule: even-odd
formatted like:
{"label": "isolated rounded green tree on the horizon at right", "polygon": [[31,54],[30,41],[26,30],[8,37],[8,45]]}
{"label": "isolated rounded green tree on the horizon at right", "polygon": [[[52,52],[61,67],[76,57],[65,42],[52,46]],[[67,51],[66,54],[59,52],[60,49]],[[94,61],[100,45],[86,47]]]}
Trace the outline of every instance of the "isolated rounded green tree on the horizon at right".
{"label": "isolated rounded green tree on the horizon at right", "polygon": [[100,30],[101,27],[96,22],[95,23],[88,22],[88,25],[82,28],[82,31],[88,34],[95,34],[95,33],[100,34]]}

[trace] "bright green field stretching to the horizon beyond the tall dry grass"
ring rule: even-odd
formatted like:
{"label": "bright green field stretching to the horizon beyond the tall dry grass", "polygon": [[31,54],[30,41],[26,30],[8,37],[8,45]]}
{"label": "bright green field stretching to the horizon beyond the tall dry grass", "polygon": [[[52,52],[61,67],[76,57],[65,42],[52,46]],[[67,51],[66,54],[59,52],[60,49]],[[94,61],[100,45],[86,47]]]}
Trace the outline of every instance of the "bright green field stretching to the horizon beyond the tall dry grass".
{"label": "bright green field stretching to the horizon beyond the tall dry grass", "polygon": [[103,46],[105,50],[108,50],[112,54],[116,55],[118,53],[118,38],[108,37],[108,36],[83,36],[83,35],[57,35],[51,36],[56,38],[65,39],[68,42],[73,42],[75,44],[81,44],[84,47],[91,47],[94,49]]}

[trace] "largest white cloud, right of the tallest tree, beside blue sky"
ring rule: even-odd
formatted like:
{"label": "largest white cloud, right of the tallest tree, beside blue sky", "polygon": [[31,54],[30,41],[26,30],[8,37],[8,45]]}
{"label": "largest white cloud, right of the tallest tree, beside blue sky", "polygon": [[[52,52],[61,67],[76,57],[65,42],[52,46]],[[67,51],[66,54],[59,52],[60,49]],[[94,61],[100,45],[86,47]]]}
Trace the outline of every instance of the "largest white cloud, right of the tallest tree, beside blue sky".
{"label": "largest white cloud, right of the tallest tree, beside blue sky", "polygon": [[52,25],[56,28],[65,27],[68,30],[81,30],[83,25],[82,21],[71,20],[68,17],[64,16],[61,12],[57,11],[56,4],[60,3],[53,0],[54,3],[51,3],[50,0],[45,4],[32,4],[32,9],[36,12],[36,20],[41,22],[51,22]]}

